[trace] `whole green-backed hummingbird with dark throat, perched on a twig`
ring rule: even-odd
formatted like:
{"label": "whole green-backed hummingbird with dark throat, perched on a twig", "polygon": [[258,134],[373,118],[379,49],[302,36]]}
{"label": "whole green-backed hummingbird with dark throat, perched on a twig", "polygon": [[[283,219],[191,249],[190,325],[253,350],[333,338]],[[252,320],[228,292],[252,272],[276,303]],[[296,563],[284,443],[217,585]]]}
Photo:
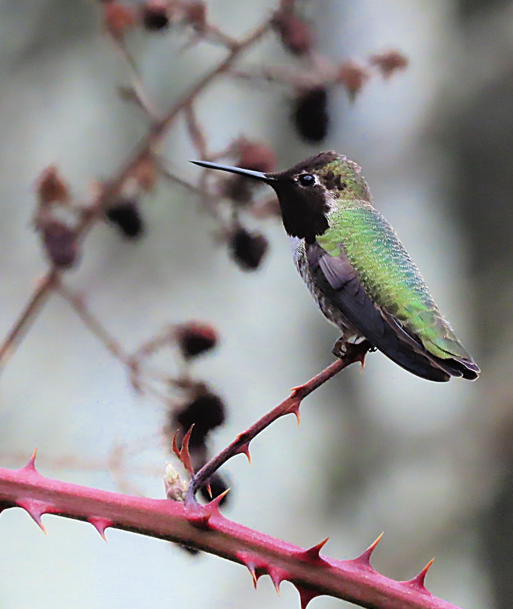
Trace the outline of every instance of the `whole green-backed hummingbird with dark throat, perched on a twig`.
{"label": "whole green-backed hummingbird with dark throat, perched on a twig", "polygon": [[274,189],[295,266],[320,311],[342,331],[335,356],[367,340],[370,351],[421,378],[478,378],[397,233],[373,207],[356,163],[333,151],[278,173],[191,162]]}

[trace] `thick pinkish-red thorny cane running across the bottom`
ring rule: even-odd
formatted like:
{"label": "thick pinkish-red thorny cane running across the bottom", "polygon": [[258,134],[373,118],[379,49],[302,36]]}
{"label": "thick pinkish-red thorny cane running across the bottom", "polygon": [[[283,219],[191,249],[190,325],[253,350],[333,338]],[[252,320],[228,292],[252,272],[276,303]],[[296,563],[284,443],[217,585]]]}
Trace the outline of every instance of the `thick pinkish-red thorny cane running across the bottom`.
{"label": "thick pinkish-red thorny cane running across the bottom", "polygon": [[[317,386],[319,382],[323,381],[316,381]],[[325,541],[305,550],[224,518],[220,499],[186,505],[67,484],[41,476],[34,457],[21,470],[0,468],[0,512],[22,507],[43,530],[41,515],[52,513],[88,521],[102,537],[105,529],[114,527],[174,541],[246,565],[255,586],[264,574],[271,576],[277,590],[289,580],[299,591],[303,608],[327,594],[375,609],[458,609],[426,590],[431,563],[408,582],[375,571],[369,559],[379,538],[358,558],[335,560],[319,554]]]}

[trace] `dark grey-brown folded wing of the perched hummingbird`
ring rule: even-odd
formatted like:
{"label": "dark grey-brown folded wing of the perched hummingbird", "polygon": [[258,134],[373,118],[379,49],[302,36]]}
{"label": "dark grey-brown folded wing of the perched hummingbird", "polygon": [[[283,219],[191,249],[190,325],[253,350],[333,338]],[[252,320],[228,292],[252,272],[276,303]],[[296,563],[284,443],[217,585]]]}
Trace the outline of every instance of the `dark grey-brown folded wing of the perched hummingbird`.
{"label": "dark grey-brown folded wing of the perched hummingbird", "polygon": [[[344,248],[339,255],[325,252],[318,244],[310,245],[310,272],[325,297],[336,306],[375,347],[394,362],[417,376],[432,381],[448,381],[450,376],[477,378],[478,368],[472,361],[457,356],[434,356],[419,336],[398,322],[391,312],[375,303],[348,260]],[[465,352],[466,353],[466,352]]]}

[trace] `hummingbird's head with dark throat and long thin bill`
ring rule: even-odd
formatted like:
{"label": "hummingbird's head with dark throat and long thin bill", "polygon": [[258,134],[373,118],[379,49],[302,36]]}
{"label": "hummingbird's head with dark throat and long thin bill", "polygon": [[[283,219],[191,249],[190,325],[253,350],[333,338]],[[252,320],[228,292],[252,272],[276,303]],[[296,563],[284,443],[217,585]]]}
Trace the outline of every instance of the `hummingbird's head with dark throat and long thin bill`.
{"label": "hummingbird's head with dark throat and long thin bill", "polygon": [[320,152],[275,174],[192,161],[202,167],[246,175],[272,186],[280,202],[283,226],[289,235],[313,243],[328,228],[328,214],[339,199],[363,199],[370,202],[369,188],[360,168],[336,152]]}

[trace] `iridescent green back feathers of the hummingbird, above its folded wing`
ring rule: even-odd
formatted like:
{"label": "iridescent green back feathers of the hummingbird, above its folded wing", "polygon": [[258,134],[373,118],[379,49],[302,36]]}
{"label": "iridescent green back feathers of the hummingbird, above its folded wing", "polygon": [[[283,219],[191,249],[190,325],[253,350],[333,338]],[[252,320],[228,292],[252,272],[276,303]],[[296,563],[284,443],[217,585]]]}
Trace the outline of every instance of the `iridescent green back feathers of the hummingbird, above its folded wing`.
{"label": "iridescent green back feathers of the hummingbird, above its folded wing", "polygon": [[328,222],[330,227],[317,242],[331,256],[339,256],[343,248],[376,305],[419,337],[434,356],[470,359],[394,229],[369,202],[339,199]]}

